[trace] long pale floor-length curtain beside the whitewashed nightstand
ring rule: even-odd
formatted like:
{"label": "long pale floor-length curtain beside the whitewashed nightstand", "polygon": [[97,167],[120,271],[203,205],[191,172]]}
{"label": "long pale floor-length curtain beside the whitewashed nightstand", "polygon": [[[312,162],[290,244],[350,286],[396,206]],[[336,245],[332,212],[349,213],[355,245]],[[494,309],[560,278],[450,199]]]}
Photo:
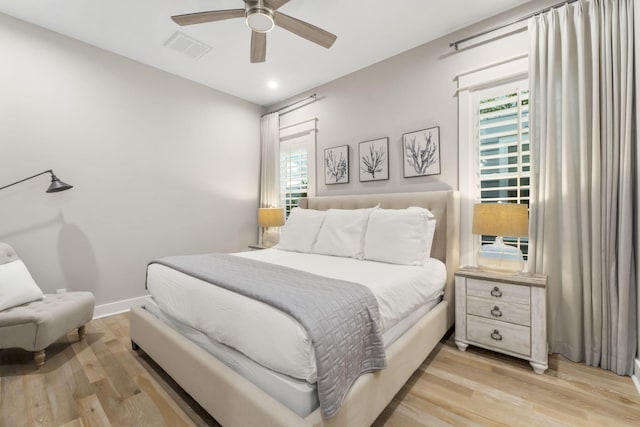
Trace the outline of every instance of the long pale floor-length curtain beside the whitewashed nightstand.
{"label": "long pale floor-length curtain beside the whitewashed nightstand", "polygon": [[633,372],[637,170],[633,0],[529,21],[530,266],[548,274],[551,352]]}

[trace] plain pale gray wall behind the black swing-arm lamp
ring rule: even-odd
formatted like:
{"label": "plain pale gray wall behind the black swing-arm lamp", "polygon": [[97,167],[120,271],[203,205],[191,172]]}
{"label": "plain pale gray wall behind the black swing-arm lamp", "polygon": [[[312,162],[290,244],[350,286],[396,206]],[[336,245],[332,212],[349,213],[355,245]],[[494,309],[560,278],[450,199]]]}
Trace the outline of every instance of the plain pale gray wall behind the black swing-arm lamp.
{"label": "plain pale gray wall behind the black swing-arm lamp", "polygon": [[45,291],[144,294],[156,257],[255,243],[260,107],[0,14],[0,241]]}

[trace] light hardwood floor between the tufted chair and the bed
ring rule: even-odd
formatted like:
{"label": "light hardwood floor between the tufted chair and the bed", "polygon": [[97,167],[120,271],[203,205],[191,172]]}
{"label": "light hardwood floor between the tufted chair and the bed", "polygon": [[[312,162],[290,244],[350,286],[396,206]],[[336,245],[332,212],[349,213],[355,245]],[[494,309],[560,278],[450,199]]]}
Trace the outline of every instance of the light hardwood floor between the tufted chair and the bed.
{"label": "light hardwood floor between the tufted chair and the bed", "polygon": [[47,349],[0,352],[0,427],[217,426],[148,356],[131,350],[129,315],[91,321]]}

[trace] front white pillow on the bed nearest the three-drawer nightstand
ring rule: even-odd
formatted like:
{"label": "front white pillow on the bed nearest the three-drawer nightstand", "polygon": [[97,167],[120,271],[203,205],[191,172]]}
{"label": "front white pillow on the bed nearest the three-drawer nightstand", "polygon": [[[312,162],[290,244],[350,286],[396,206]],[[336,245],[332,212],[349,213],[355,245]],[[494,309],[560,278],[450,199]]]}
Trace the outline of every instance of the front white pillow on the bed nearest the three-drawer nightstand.
{"label": "front white pillow on the bed nearest the three-drawer nightstand", "polygon": [[424,208],[378,209],[371,213],[364,259],[423,265],[431,254],[435,217]]}

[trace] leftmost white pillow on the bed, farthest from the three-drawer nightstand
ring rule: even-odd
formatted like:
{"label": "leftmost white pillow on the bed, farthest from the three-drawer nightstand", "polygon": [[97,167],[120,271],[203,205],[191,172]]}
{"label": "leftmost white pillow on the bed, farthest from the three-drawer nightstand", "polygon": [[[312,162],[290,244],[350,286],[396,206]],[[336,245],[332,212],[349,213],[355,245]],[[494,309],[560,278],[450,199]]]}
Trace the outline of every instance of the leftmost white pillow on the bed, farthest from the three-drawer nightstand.
{"label": "leftmost white pillow on the bed, farthest from the three-drawer nightstand", "polygon": [[280,230],[280,241],[275,247],[285,251],[310,253],[326,214],[326,211],[293,208]]}

